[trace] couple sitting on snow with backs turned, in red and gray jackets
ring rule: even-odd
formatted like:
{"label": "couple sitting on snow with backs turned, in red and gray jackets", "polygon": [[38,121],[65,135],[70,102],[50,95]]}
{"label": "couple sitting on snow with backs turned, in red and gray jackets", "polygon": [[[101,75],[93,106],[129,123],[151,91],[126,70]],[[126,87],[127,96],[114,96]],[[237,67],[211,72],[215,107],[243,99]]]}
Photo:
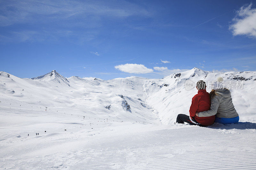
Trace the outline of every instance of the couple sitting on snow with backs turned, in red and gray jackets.
{"label": "couple sitting on snow with backs turned, in red and gray jackets", "polygon": [[[209,126],[214,122],[222,124],[237,123],[239,116],[233,105],[230,91],[223,87],[223,78],[214,82],[210,94],[206,92],[203,80],[196,83],[198,94],[192,98],[189,116],[179,114],[177,123],[187,122],[192,125]],[[216,117],[215,117],[216,115]]]}

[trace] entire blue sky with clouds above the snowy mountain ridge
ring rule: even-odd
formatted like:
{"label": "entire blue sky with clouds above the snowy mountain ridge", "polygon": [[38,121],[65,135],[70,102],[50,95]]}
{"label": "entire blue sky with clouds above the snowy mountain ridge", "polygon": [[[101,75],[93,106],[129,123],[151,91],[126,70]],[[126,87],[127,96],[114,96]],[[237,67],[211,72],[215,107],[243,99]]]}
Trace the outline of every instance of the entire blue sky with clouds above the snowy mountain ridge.
{"label": "entire blue sky with clouds above the snowy mountain ridge", "polygon": [[0,1],[0,70],[32,78],[256,71],[256,1]]}

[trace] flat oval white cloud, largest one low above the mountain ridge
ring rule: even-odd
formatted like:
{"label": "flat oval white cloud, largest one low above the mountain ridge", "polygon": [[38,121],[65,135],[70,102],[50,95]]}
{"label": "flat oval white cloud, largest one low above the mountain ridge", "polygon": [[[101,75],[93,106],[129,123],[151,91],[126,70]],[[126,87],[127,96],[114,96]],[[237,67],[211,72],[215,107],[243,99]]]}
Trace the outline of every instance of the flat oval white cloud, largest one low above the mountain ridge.
{"label": "flat oval white cloud, largest one low above the mountain ridge", "polygon": [[143,64],[121,64],[116,65],[116,69],[126,72],[126,73],[135,73],[135,74],[145,74],[153,72],[153,69],[145,67]]}

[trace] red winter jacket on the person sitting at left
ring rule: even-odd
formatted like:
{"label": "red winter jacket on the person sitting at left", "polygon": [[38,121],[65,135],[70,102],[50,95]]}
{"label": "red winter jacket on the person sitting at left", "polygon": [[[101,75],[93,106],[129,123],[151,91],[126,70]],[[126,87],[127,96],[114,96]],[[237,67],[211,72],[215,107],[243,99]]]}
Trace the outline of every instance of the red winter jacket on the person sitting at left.
{"label": "red winter jacket on the person sitting at left", "polygon": [[205,89],[198,90],[192,98],[192,104],[189,109],[190,117],[195,117],[196,121],[204,126],[209,126],[214,123],[215,115],[209,117],[197,117],[196,112],[203,112],[209,110],[211,107],[210,95]]}

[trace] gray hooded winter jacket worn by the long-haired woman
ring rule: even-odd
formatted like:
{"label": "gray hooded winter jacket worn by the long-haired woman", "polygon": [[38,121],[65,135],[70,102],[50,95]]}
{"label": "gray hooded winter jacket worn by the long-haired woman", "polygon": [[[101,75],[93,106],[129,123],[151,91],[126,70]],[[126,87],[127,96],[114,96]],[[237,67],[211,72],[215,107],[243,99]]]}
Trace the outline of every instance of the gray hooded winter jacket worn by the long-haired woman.
{"label": "gray hooded winter jacket worn by the long-haired woman", "polygon": [[198,113],[199,117],[216,115],[222,118],[233,118],[238,116],[229,90],[219,89],[215,91],[215,94],[216,95],[211,99],[210,110]]}

